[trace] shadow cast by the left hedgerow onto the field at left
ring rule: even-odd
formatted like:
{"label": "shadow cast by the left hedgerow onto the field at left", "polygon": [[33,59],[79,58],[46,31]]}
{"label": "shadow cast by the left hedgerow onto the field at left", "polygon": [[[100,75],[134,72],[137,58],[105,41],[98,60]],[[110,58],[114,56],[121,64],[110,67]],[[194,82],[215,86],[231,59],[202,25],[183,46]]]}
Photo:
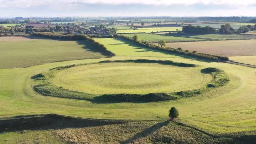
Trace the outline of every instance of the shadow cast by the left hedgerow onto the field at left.
{"label": "shadow cast by the left hedgerow onto the field at left", "polygon": [[84,40],[76,41],[76,40],[67,40],[67,39],[42,38],[42,37],[34,37],[34,36],[22,36],[22,37],[29,38],[29,39],[47,39],[47,40],[52,40],[52,41],[75,41],[76,44],[82,45],[83,46],[82,48],[85,49],[86,52],[100,53],[102,55],[109,56],[105,52],[102,52],[101,50],[95,49],[93,44],[91,44],[89,42],[86,42]]}

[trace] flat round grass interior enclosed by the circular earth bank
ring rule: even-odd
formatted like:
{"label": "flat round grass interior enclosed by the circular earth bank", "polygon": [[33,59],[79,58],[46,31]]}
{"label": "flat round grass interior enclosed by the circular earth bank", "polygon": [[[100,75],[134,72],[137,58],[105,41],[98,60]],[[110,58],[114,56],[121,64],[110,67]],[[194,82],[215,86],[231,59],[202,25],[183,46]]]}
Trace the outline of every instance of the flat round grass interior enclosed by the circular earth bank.
{"label": "flat round grass interior enclosed by the circular earth bank", "polygon": [[212,76],[202,74],[200,68],[110,63],[62,70],[52,83],[90,94],[148,94],[198,89],[211,80]]}

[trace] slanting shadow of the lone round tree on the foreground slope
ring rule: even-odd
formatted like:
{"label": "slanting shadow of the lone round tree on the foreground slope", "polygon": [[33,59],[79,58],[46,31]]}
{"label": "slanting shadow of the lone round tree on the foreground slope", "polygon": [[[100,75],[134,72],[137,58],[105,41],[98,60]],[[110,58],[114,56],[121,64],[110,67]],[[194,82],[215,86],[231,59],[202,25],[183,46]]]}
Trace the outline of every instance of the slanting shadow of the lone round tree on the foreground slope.
{"label": "slanting shadow of the lone round tree on the foreground slope", "polygon": [[140,139],[142,137],[146,137],[146,136],[152,134],[153,132],[155,132],[156,130],[160,129],[161,127],[168,125],[169,123],[170,123],[170,121],[157,123],[154,126],[151,126],[147,129],[143,130],[142,132],[135,134],[133,137],[128,138],[127,140],[124,140],[123,142],[120,142],[120,143],[121,144],[133,143],[134,140]]}

